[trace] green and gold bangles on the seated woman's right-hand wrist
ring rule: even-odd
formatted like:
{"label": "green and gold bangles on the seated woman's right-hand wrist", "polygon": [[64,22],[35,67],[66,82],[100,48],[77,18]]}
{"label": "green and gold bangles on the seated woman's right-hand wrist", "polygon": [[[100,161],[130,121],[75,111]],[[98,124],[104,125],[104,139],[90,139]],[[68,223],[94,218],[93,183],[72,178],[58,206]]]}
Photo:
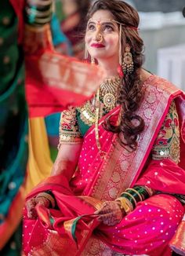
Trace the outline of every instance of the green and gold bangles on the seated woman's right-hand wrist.
{"label": "green and gold bangles on the seated woman's right-hand wrist", "polygon": [[154,195],[154,190],[147,186],[135,186],[134,188],[127,188],[122,192],[121,196],[115,199],[121,203],[121,209],[129,214],[140,201],[147,199]]}

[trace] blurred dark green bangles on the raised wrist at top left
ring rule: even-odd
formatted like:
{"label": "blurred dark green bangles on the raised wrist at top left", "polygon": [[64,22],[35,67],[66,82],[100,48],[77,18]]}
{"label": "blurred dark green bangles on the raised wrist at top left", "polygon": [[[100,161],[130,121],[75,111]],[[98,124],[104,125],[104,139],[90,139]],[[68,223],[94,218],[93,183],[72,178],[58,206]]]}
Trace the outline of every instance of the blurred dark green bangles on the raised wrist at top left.
{"label": "blurred dark green bangles on the raised wrist at top left", "polygon": [[53,0],[27,0],[25,19],[32,26],[43,26],[50,22],[53,13]]}

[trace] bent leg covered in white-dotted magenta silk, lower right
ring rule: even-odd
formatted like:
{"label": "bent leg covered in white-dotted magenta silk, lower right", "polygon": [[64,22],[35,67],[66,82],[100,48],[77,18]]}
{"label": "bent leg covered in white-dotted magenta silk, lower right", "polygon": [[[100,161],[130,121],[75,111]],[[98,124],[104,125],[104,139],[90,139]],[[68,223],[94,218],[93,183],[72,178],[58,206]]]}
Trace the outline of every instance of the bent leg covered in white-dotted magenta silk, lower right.
{"label": "bent leg covered in white-dotted magenta silk, lower right", "polygon": [[169,251],[169,240],[176,232],[183,212],[182,204],[174,196],[151,196],[138,203],[136,209],[114,228],[100,227],[107,236],[103,240],[125,254],[135,251],[136,254],[161,255]]}

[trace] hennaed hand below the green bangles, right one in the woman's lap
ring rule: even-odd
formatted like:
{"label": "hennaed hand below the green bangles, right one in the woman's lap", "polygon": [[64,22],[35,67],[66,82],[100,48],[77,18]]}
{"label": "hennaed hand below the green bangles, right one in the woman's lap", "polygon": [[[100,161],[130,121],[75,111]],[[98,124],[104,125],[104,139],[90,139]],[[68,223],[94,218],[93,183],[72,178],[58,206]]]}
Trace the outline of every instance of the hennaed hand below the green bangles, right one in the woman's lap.
{"label": "hennaed hand below the green bangles, right one in the woman's lap", "polygon": [[124,212],[120,208],[118,201],[106,201],[100,210],[96,210],[95,214],[100,215],[99,220],[105,225],[114,226],[122,221]]}

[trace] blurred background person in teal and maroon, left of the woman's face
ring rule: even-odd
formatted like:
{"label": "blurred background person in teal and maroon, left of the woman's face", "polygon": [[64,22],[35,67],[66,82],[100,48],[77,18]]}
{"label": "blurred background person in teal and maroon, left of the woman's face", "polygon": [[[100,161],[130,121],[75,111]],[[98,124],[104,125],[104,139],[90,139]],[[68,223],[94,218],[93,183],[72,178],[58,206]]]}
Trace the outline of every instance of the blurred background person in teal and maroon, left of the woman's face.
{"label": "blurred background person in teal and maroon, left of the woman's face", "polygon": [[[89,10],[90,0],[56,0],[51,22],[53,44],[57,52],[83,59],[85,43],[85,16]],[[59,25],[60,24],[60,25]],[[63,35],[63,36],[61,36]],[[57,42],[58,41],[58,42]],[[53,161],[57,155],[60,113],[45,118],[49,148]]]}

